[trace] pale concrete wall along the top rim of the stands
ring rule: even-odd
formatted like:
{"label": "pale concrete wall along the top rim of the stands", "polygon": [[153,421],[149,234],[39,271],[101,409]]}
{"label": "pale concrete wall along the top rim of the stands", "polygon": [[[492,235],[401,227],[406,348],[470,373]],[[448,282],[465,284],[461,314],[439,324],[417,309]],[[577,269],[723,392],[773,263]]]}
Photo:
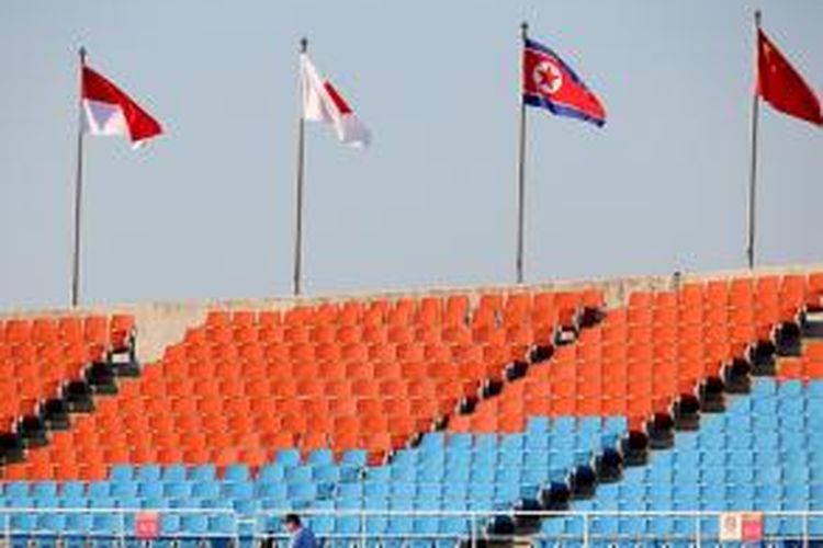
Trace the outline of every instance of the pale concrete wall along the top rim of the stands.
{"label": "pale concrete wall along the top rim of the stands", "polygon": [[[822,272],[823,263],[805,265],[766,266],[755,271],[757,274],[808,274],[809,272]],[[752,271],[735,270],[714,273],[684,273],[679,283],[726,279],[737,276],[751,276]],[[472,287],[427,288],[420,290],[395,292],[395,293],[351,293],[341,295],[323,295],[304,298],[270,298],[270,299],[244,299],[244,300],[213,300],[213,301],[181,301],[181,302],[146,302],[134,305],[119,305],[104,308],[81,308],[78,310],[38,310],[38,311],[10,311],[0,313],[0,319],[13,317],[35,316],[82,316],[88,313],[132,313],[137,326],[138,357],[143,363],[154,362],[162,356],[166,346],[174,344],[183,339],[185,330],[196,327],[205,320],[206,313],[212,309],[223,310],[275,310],[286,309],[297,304],[339,302],[350,299],[371,300],[375,298],[401,298],[421,296],[448,296],[451,294],[469,294],[473,302],[483,294],[507,294],[522,290],[528,287],[532,290],[571,290],[579,288],[601,288],[609,307],[619,307],[625,304],[628,296],[638,290],[670,289],[677,285],[672,276],[629,276],[613,279],[586,279],[586,281],[557,281],[517,285],[492,285]]]}

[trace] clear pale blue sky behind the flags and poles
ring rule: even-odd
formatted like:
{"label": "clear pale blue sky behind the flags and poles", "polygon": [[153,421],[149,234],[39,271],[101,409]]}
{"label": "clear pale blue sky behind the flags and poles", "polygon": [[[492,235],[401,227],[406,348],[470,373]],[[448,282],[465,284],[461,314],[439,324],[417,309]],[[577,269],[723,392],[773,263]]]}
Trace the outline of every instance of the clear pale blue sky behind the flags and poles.
{"label": "clear pale blue sky behind the flags and poles", "polygon": [[[823,89],[823,2],[0,3],[0,309],[69,295],[76,50],[162,121],[87,141],[83,301],[286,295],[297,42],[371,127],[311,126],[309,294],[514,276],[519,23],[604,100],[529,113],[527,277],[744,265],[752,12]],[[823,259],[823,135],[763,109],[758,253]]]}

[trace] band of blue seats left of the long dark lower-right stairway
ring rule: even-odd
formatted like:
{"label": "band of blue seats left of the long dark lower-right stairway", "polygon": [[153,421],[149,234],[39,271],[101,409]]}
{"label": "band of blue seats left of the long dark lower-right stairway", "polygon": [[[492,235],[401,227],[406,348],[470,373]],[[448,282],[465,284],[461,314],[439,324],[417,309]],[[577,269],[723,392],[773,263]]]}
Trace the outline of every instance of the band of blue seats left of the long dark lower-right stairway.
{"label": "band of blue seats left of the long dark lower-right stairway", "polygon": [[[606,427],[606,430],[604,430]],[[230,465],[218,477],[213,465],[158,467],[115,466],[104,481],[7,482],[9,505],[38,507],[113,507],[234,510],[241,515],[289,509],[306,510],[506,510],[576,463],[590,460],[601,444],[613,444],[624,431],[621,420],[534,420],[525,433],[510,436],[428,434],[415,448],[399,450],[386,466],[367,466],[367,453],[346,452],[335,463],[318,449],[303,461],[294,449],[281,449],[256,477],[246,465]],[[84,486],[84,489],[82,487]],[[67,489],[69,488],[69,489]],[[309,523],[319,534],[357,533],[360,520],[343,516]],[[273,523],[261,524],[267,528]],[[370,520],[370,533],[464,534],[469,523],[447,517]]]}

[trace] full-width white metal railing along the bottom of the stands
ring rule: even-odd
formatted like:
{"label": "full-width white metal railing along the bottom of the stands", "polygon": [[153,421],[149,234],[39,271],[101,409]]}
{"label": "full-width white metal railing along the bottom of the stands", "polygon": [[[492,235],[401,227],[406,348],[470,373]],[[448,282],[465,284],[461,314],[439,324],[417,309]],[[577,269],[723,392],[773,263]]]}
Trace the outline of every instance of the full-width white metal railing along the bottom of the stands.
{"label": "full-width white metal railing along the bottom of the stands", "polygon": [[[291,509],[271,510],[255,516],[240,516],[230,510],[219,509],[0,509],[0,530],[3,532],[5,546],[12,546],[14,539],[54,539],[82,538],[89,540],[115,541],[125,546],[127,540],[144,537],[135,528],[137,517],[142,514],[157,514],[160,528],[156,538],[164,540],[193,539],[211,545],[215,540],[233,540],[235,544],[257,546],[262,540],[271,540],[278,546],[285,546],[288,534],[282,528],[283,516]],[[105,527],[88,526],[88,521],[80,527],[68,523],[58,528],[41,525],[45,516],[84,515],[93,522],[97,516],[113,516],[115,524],[109,520]],[[187,530],[174,527],[164,530],[162,523],[177,516],[204,516],[216,518],[226,516],[219,530],[211,527],[199,527]],[[760,546],[782,546],[790,540],[794,546],[821,546],[823,543],[823,512],[821,511],[781,511],[781,512],[690,512],[690,511],[625,511],[625,512],[514,512],[514,511],[376,511],[376,510],[303,510],[300,515],[325,547],[450,547],[462,544],[476,547],[485,540],[523,541],[541,547],[589,547],[610,546],[663,546],[666,543],[695,546],[703,544],[717,546],[728,540],[740,545],[752,540]],[[748,525],[742,523],[745,516]],[[519,535],[498,535],[487,533],[486,524],[499,516],[511,518],[518,526]],[[731,529],[721,524],[723,520],[739,516],[740,538],[733,538],[736,522],[730,522]],[[21,526],[21,517],[23,520]],[[32,522],[33,521],[33,522]],[[59,521],[59,520],[58,520]],[[529,522],[532,522],[529,524]],[[34,526],[31,524],[34,523]],[[202,522],[201,522],[202,524]],[[442,527],[446,524],[447,527]],[[753,525],[754,524],[754,525]],[[759,524],[759,525],[758,525]],[[229,525],[226,527],[225,525]],[[529,529],[529,525],[532,526]],[[748,530],[745,530],[748,527]],[[752,528],[754,527],[754,528]],[[759,527],[759,528],[758,528]],[[724,530],[725,529],[725,530]],[[730,534],[732,537],[730,537]],[[747,535],[747,536],[746,536]]]}

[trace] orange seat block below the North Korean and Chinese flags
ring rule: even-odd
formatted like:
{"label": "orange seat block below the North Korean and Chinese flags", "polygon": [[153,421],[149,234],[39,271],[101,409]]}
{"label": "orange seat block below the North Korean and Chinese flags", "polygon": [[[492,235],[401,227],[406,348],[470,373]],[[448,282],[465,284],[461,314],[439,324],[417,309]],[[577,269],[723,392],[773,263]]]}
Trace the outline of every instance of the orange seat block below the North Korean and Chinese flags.
{"label": "orange seat block below the North Korean and Chinese flags", "polygon": [[500,398],[478,404],[453,431],[519,432],[527,416],[624,415],[641,429],[695,392],[721,367],[744,359],[794,318],[805,298],[802,276],[687,284],[679,292],[638,292],[624,309],[560,347],[551,367],[530,368]]}

